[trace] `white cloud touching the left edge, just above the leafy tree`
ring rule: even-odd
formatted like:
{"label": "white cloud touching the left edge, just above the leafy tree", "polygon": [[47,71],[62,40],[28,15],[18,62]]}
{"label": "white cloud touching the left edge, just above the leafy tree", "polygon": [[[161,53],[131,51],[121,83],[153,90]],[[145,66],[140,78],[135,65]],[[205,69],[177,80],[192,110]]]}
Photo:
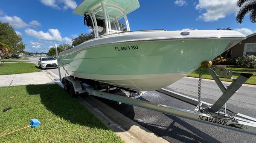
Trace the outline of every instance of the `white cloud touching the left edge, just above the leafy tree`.
{"label": "white cloud touching the left edge, just above the leafy tree", "polygon": [[12,25],[14,28],[23,28],[29,26],[28,24],[23,22],[20,17],[17,16],[9,17],[6,15],[4,17],[0,17],[0,20],[3,22],[9,22],[9,24]]}

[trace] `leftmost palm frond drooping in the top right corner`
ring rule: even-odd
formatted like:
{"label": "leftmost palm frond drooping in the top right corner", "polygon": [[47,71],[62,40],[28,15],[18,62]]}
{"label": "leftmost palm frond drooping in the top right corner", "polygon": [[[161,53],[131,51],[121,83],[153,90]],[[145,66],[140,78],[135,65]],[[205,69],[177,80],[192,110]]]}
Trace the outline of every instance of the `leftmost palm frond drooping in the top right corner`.
{"label": "leftmost palm frond drooping in the top right corner", "polygon": [[239,23],[243,22],[245,14],[247,14],[249,11],[253,10],[253,5],[252,3],[256,3],[256,1],[251,2],[251,3],[246,3],[244,6],[242,6],[238,13],[236,14],[236,21]]}

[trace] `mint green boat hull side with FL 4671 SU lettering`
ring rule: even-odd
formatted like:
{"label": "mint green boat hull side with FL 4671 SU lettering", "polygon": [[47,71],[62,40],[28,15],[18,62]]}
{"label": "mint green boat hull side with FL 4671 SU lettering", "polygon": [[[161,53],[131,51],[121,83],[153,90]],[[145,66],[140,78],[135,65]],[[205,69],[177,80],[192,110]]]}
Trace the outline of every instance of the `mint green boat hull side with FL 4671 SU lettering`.
{"label": "mint green boat hull side with FL 4671 SU lettering", "polygon": [[[134,90],[166,87],[224,52],[232,39],[128,42],[84,48],[60,56],[64,70]],[[164,80],[164,81],[163,81]]]}

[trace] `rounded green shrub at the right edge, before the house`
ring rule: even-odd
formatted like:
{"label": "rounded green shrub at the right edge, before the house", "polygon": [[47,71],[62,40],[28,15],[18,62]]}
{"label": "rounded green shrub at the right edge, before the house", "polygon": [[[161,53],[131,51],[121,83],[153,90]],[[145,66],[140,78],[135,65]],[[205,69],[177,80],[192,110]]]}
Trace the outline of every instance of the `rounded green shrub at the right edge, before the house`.
{"label": "rounded green shrub at the right edge, before the house", "polygon": [[256,67],[256,56],[247,55],[247,56],[239,56],[236,59],[236,64],[245,68],[253,68]]}

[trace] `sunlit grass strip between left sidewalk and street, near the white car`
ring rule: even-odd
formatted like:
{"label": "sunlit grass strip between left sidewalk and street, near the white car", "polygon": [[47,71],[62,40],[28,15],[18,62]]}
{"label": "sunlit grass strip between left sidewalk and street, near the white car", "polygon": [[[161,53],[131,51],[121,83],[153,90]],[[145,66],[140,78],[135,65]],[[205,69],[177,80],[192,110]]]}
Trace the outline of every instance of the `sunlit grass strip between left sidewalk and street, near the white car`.
{"label": "sunlit grass strip between left sidewalk and street, near the white car", "polygon": [[34,63],[4,63],[0,64],[0,75],[32,73],[41,71]]}

